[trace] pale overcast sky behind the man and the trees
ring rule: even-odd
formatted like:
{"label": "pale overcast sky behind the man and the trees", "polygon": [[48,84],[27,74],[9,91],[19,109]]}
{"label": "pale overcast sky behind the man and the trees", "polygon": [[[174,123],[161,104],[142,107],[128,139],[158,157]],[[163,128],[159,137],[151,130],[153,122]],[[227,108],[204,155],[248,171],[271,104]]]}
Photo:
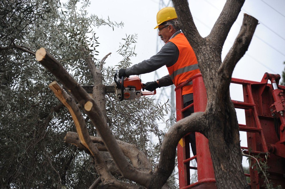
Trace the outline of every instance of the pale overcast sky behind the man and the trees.
{"label": "pale overcast sky behind the man and the trees", "polygon": [[[133,64],[139,63],[145,59],[149,59],[156,54],[163,45],[158,39],[158,30],[153,28],[156,26],[156,14],[162,0],[144,0],[144,1],[111,1],[100,0],[91,1],[90,7],[87,9],[89,13],[96,14],[101,18],[116,22],[124,22],[123,28],[100,27],[96,30],[99,37],[98,42],[101,43],[96,50],[99,51],[98,59],[103,58],[109,52],[111,57],[106,60],[106,65],[116,65],[123,57],[116,53],[119,49],[119,43],[126,34],[137,34],[137,43],[135,45],[136,57],[131,59]],[[164,0],[168,4],[168,0]],[[215,21],[217,20],[225,0],[189,0],[189,7],[194,18],[194,22],[200,35],[207,36]],[[171,4],[170,4],[171,5]],[[285,0],[246,0],[242,10],[233,24],[227,40],[223,46],[222,59],[231,48],[237,34],[239,33],[243,14],[247,13],[254,16],[260,24],[258,24],[248,51],[237,63],[233,72],[234,78],[245,80],[260,81],[265,72],[282,74],[285,61]],[[158,43],[157,43],[158,41]],[[162,67],[157,70],[158,76],[154,73],[141,75],[143,82],[154,81],[158,77],[168,74],[167,68]],[[241,85],[232,84],[230,87],[231,98],[243,101]],[[158,89],[159,97],[163,101],[168,99],[171,88],[166,90]],[[238,121],[245,124],[244,111],[237,109]],[[247,146],[246,134],[241,132],[241,146]],[[243,161],[243,164],[245,161]]]}

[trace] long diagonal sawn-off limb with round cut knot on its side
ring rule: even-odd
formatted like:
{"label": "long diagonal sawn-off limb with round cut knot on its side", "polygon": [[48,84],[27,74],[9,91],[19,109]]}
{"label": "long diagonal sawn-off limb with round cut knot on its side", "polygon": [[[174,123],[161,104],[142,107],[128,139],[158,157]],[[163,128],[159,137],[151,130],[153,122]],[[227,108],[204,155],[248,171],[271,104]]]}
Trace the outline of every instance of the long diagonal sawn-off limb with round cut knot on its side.
{"label": "long diagonal sawn-off limb with round cut knot on its side", "polygon": [[[47,68],[58,80],[74,95],[75,99],[81,105],[84,112],[88,115],[91,122],[96,126],[97,132],[111,154],[115,164],[121,174],[129,179],[142,185],[149,185],[151,182],[148,173],[138,171],[126,159],[123,152],[113,136],[107,121],[100,111],[94,99],[78,84],[74,78],[60,65],[60,63],[46,52],[44,48],[40,48],[36,52],[36,59]],[[89,135],[88,135],[89,136]],[[93,144],[93,143],[92,143]]]}

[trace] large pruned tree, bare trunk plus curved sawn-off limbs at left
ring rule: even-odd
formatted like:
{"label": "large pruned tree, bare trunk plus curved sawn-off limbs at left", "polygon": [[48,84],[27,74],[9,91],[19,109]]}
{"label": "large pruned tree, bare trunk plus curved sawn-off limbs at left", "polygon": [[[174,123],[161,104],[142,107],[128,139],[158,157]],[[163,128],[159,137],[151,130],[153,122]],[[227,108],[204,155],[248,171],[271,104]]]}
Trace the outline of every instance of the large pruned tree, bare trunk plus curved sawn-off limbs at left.
{"label": "large pruned tree, bare trunk plus curved sawn-off limbs at left", "polygon": [[[91,98],[84,89],[68,74],[66,69],[61,66],[61,57],[54,58],[51,54],[56,55],[56,51],[48,53],[45,49],[39,49],[36,53],[36,59],[46,67],[62,85],[70,91],[76,101],[80,104],[81,109],[86,113],[96,127],[96,131],[101,138],[90,138],[85,126],[84,117],[81,114],[75,101],[72,97],[66,94],[60,86],[53,83],[52,86],[62,91],[64,99],[68,101],[68,105],[72,107],[71,112],[75,112],[75,120],[78,120],[79,140],[95,161],[95,168],[100,175],[103,187],[109,188],[138,188],[133,182],[140,184],[146,188],[161,188],[165,183],[174,168],[174,159],[176,145],[182,136],[188,132],[200,132],[209,139],[209,147],[213,165],[215,170],[215,178],[218,188],[248,188],[245,176],[243,175],[243,168],[241,165],[241,149],[239,143],[239,127],[233,103],[229,96],[229,84],[231,74],[236,63],[247,51],[258,21],[245,14],[241,30],[233,44],[233,47],[221,61],[221,50],[227,34],[236,20],[244,0],[227,0],[223,11],[217,19],[209,36],[202,38],[198,33],[193,22],[192,15],[189,10],[188,2],[186,0],[174,0],[174,7],[178,14],[178,19],[184,34],[192,45],[198,64],[203,75],[203,80],[207,89],[207,108],[205,112],[197,112],[189,117],[174,124],[164,136],[162,146],[160,149],[159,162],[154,171],[145,171],[135,165],[129,163],[123,153],[123,149],[115,140],[112,132],[105,119],[104,94],[100,94],[100,90],[93,91]],[[79,40],[84,46],[84,39]],[[82,47],[81,46],[81,47]],[[92,57],[90,58],[89,47],[87,45],[83,48],[85,62],[89,65],[89,69],[95,76],[100,78],[100,72],[94,67]],[[93,82],[104,87],[102,80],[94,78]],[[110,125],[112,127],[112,125]],[[82,136],[80,136],[82,133]],[[84,136],[84,137],[83,137]],[[67,138],[71,139],[71,137]],[[76,138],[73,143],[76,144]],[[111,175],[107,169],[107,165],[101,154],[99,153],[99,146],[104,143],[104,148],[108,150],[112,159],[115,162],[121,175],[133,182],[123,182]],[[128,150],[130,152],[130,149]],[[132,161],[132,160],[131,160]]]}

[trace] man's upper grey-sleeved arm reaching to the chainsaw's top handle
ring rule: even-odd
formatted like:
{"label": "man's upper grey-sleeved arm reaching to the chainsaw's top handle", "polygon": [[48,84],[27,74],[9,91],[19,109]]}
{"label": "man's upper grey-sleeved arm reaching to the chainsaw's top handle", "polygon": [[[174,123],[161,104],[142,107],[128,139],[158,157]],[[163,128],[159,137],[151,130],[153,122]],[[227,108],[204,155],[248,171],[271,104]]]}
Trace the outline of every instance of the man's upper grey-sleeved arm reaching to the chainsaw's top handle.
{"label": "man's upper grey-sleeved arm reaching to the chainsaw's top handle", "polygon": [[169,67],[176,63],[178,56],[179,50],[177,46],[172,42],[168,42],[156,55],[150,57],[148,60],[144,60],[141,63],[127,68],[125,73],[127,76],[140,75],[153,72],[164,65]]}

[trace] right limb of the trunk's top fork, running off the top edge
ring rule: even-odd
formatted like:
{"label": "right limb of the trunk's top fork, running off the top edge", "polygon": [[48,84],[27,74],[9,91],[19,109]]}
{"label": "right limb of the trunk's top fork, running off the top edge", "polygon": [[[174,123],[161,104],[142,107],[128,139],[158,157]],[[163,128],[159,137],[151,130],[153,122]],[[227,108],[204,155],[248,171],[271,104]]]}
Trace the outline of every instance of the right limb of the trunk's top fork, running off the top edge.
{"label": "right limb of the trunk's top fork, running off the top edge", "polygon": [[219,46],[220,51],[222,51],[223,44],[239,12],[241,12],[244,2],[245,0],[227,0],[209,36],[207,36],[207,38],[213,40],[215,45]]}

